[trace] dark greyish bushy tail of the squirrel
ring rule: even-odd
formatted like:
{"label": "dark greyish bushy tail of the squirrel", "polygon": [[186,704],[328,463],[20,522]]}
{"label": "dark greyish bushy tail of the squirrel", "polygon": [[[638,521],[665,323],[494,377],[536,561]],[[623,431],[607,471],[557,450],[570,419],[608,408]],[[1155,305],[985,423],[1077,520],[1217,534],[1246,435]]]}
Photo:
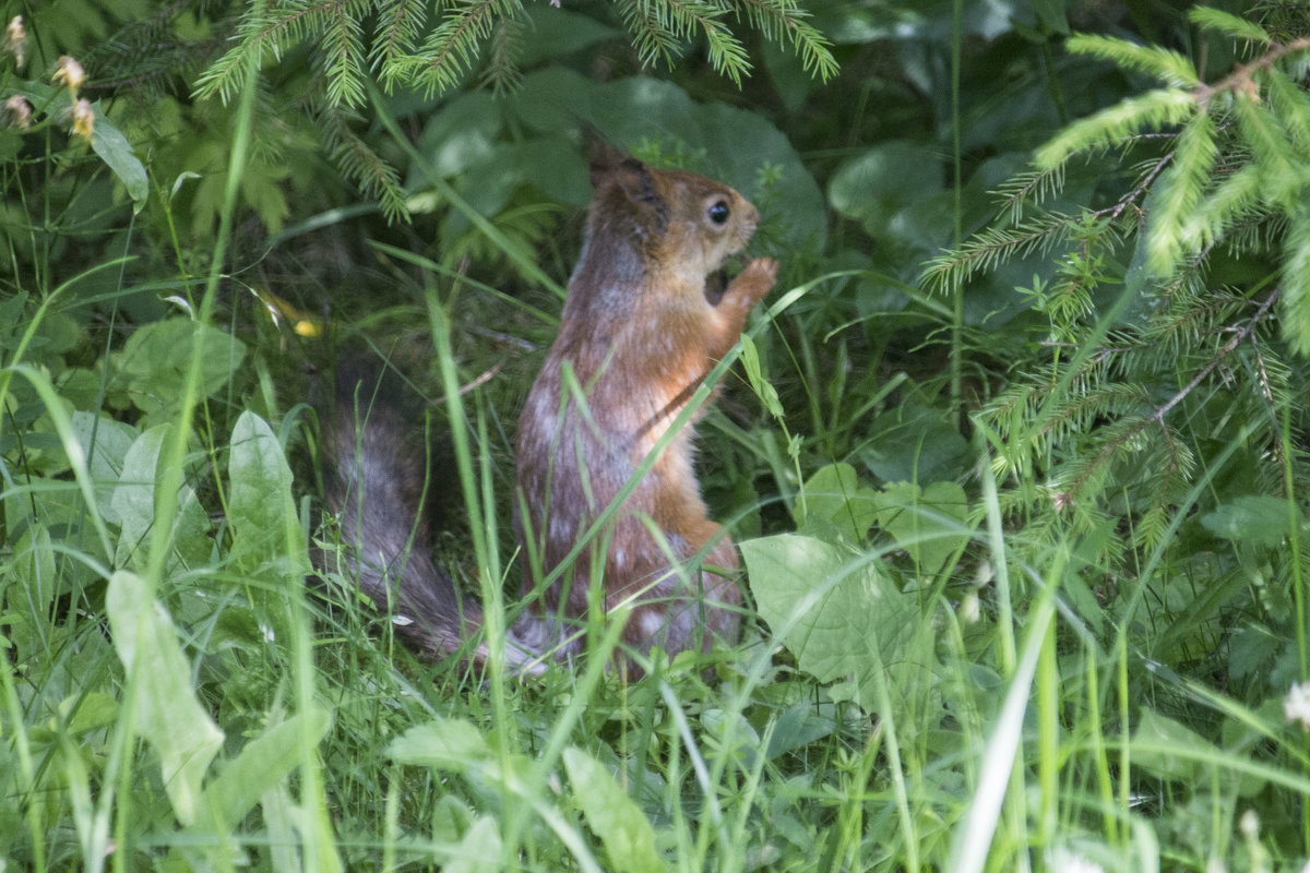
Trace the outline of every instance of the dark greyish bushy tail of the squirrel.
{"label": "dark greyish bushy tail of the squirrel", "polygon": [[[335,403],[324,419],[328,508],[341,520],[346,571],[419,652],[443,657],[482,626],[482,609],[461,598],[431,556],[423,507],[426,452],[413,421],[376,373],[338,373]],[[486,645],[469,652],[481,664]]]}

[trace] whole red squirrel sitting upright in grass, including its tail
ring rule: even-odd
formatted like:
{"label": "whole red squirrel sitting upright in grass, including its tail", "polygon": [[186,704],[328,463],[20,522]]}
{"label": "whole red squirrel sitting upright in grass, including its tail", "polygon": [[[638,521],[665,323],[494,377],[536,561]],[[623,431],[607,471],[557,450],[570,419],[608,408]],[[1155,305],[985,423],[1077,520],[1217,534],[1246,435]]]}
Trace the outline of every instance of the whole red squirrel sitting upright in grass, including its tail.
{"label": "whole red squirrel sitting upright in grass, including its tail", "polygon": [[[582,650],[578,628],[597,602],[593,568],[605,614],[630,610],[621,641],[633,652],[707,650],[715,636],[735,639],[739,624],[736,547],[707,517],[692,427],[671,437],[574,565],[561,564],[736,343],[778,263],[756,258],[731,281],[714,279],[758,223],[756,208],[726,185],[651,168],[604,143],[592,147],[590,175],[593,196],[559,334],[519,419],[524,597],[557,571],[508,630],[506,658],[520,673]],[[472,598],[461,602],[432,561],[423,453],[403,437],[405,416],[385,398],[372,402],[372,391],[339,373],[324,438],[328,507],[354,547],[347,571],[402,639],[435,657],[458,653],[482,626],[482,610]],[[485,664],[486,643],[466,657]]]}

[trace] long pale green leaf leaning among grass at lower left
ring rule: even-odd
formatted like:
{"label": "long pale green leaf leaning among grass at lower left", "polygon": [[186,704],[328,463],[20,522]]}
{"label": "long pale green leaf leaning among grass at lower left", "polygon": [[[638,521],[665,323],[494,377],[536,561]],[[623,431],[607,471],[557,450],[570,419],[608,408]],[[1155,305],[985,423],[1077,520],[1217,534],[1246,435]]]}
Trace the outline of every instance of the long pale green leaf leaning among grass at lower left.
{"label": "long pale green leaf leaning among grass at lower left", "polygon": [[149,597],[145,581],[127,571],[114,573],[105,611],[114,649],[136,682],[136,730],[159,755],[160,781],[173,813],[182,825],[193,825],[204,774],[223,746],[223,732],[195,699],[191,665],[182,654],[173,620]]}

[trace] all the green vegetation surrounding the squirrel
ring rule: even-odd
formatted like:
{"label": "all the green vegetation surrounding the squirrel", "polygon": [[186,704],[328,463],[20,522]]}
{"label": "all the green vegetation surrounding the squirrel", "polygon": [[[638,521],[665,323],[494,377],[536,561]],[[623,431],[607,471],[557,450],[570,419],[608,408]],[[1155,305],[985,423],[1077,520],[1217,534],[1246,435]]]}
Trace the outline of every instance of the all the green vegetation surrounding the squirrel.
{"label": "all the green vegetation surrounding the squirrel", "polygon": [[[1306,869],[1303,5],[0,17],[0,868]],[[307,398],[394,361],[516,590],[582,126],[783,264],[701,425],[744,635],[469,675],[305,584]]]}

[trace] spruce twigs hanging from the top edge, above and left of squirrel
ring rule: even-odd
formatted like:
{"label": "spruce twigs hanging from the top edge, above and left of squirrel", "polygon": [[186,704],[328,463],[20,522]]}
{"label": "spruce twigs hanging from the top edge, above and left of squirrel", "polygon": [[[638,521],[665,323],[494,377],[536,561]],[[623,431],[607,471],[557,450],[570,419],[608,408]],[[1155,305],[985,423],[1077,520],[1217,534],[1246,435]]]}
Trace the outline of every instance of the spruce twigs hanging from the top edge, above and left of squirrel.
{"label": "spruce twigs hanging from the top edge, above and left of squirrel", "polygon": [[[558,5],[558,4],[553,4]],[[751,62],[730,22],[744,22],[765,39],[793,47],[807,72],[827,81],[836,73],[828,41],[794,0],[702,3],[620,0],[616,14],[642,64],[672,64],[703,41],[715,71],[740,86]],[[563,16],[538,10],[536,17]],[[376,198],[388,219],[405,215],[396,170],[343,124],[343,113],[365,101],[365,80],[376,75],[388,92],[398,86],[427,97],[445,94],[482,67],[482,82],[498,93],[521,80],[517,58],[531,18],[523,0],[322,0],[252,4],[241,16],[234,45],[196,80],[196,94],[231,101],[250,64],[262,65],[309,47],[316,76],[312,94],[329,153],[347,178]],[[363,22],[372,22],[367,34]],[[569,26],[569,25],[565,25]],[[367,42],[367,45],[365,45]]]}

